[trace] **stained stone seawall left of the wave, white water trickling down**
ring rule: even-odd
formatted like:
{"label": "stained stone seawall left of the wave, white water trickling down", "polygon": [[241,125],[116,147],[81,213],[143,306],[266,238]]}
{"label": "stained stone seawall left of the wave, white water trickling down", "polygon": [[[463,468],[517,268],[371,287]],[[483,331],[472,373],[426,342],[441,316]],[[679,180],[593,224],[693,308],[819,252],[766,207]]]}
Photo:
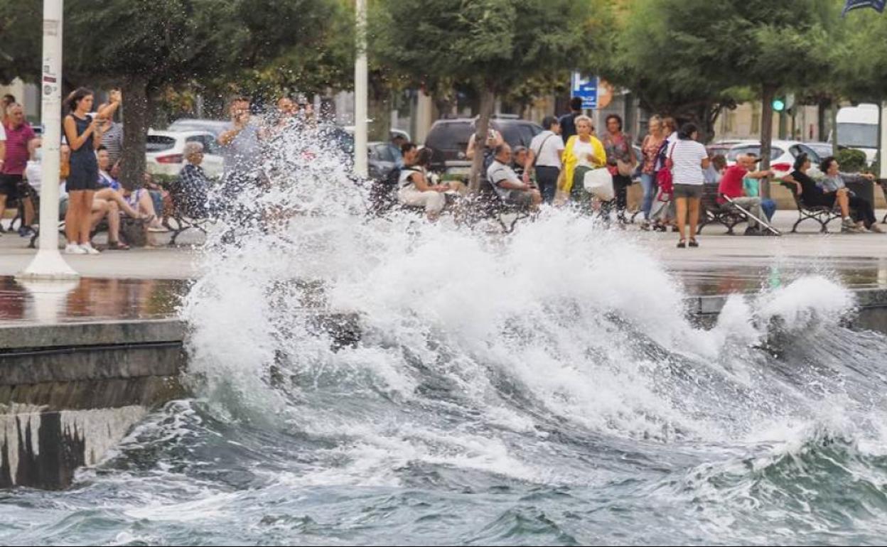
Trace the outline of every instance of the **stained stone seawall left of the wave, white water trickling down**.
{"label": "stained stone seawall left of the wave, white water trickling down", "polygon": [[184,395],[184,324],[0,327],[0,488],[66,488],[153,407]]}

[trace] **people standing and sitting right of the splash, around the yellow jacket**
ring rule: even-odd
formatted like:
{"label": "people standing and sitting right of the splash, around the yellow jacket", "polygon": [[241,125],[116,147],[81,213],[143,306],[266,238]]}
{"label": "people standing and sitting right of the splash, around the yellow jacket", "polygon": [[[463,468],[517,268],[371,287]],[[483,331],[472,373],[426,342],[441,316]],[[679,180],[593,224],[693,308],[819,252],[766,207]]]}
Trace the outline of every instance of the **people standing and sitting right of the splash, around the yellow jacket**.
{"label": "people standing and sitting right of the splash, around the yellow jacket", "polygon": [[[617,114],[609,114],[605,125],[599,137],[593,119],[582,111],[582,100],[573,98],[570,113],[561,118],[546,117],[543,131],[533,137],[528,148],[518,146],[512,151],[501,134],[490,129],[483,147],[482,188],[490,187],[503,203],[530,210],[542,203],[573,203],[580,210],[598,212],[607,223],[615,209],[616,222],[624,228],[630,222],[626,214],[628,188],[633,178],[640,178],[640,229],[678,231],[680,248],[699,246],[696,233],[703,215],[706,184],[713,185],[717,195],[709,207],[742,213],[748,223],[744,232],[747,236],[779,233],[769,224],[776,203],[761,191],[761,184],[770,181],[796,191],[805,207],[837,207],[844,232],[882,231],[872,203],[847,188],[852,181],[873,181],[874,176],[841,173],[833,157],[822,162],[823,177],[814,181],[806,175],[811,161],[805,154],[797,157],[789,173],[757,169],[760,158],[754,154],[742,154],[733,165],[727,165],[723,155],[710,157],[695,124],[678,127],[670,116],[650,117],[648,133],[638,142],[640,154]],[[415,145],[406,144],[402,150],[404,165],[411,173],[414,168],[420,169],[421,174],[401,177],[398,200],[405,206],[425,207],[428,218],[434,219],[447,203],[442,196],[453,191],[446,185],[414,183],[427,181],[431,175],[427,167],[416,165],[412,155]],[[469,160],[475,155],[474,134],[465,155]]]}

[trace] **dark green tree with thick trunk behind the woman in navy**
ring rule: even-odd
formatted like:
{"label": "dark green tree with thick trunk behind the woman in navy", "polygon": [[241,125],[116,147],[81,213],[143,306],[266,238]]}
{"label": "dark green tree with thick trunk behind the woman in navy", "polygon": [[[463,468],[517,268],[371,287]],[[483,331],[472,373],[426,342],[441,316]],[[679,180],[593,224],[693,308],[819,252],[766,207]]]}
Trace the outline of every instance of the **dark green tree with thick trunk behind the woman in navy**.
{"label": "dark green tree with thick trunk behind the woman in navy", "polygon": [[68,0],[67,74],[123,91],[123,183],[141,180],[145,134],[161,92],[200,80],[231,81],[243,66],[264,66],[310,47],[336,1]]}

